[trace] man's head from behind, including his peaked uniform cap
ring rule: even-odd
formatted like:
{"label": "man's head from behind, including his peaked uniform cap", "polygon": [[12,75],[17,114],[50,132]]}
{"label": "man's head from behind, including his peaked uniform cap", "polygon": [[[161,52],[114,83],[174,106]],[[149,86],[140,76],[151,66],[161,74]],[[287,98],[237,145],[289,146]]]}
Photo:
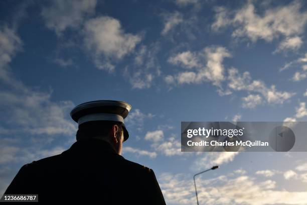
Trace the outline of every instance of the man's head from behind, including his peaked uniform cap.
{"label": "man's head from behind, including his peaked uniform cap", "polygon": [[130,110],[127,102],[117,100],[95,100],[76,106],[70,116],[79,126],[77,140],[102,139],[120,154],[122,142],[129,138],[124,119]]}

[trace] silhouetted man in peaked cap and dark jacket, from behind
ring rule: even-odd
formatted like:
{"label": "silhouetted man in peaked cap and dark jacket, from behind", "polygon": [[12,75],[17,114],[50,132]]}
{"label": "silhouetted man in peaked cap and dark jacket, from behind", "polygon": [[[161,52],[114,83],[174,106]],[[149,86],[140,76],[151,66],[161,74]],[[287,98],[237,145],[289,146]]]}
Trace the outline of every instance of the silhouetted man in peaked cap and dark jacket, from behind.
{"label": "silhouetted man in peaked cap and dark jacket, from behind", "polygon": [[24,165],[5,194],[38,194],[46,203],[165,204],[154,171],[120,155],[130,109],[113,100],[74,108],[77,142],[62,154]]}

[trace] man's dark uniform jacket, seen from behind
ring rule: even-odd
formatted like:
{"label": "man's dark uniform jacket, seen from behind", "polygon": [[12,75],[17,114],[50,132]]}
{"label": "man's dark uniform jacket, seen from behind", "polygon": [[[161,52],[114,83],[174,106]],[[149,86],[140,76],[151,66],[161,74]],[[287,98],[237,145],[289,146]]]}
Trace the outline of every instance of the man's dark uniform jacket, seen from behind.
{"label": "man's dark uniform jacket, seen from behind", "polygon": [[24,165],[5,194],[38,194],[46,203],[165,204],[154,171],[98,139]]}

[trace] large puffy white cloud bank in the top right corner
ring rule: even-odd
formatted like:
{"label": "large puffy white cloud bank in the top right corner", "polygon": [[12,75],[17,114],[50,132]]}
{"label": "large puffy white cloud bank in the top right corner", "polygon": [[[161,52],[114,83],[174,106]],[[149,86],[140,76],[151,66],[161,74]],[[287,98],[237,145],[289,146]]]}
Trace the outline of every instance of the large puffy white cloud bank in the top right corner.
{"label": "large puffy white cloud bank in the top right corner", "polygon": [[252,42],[259,39],[272,41],[283,36],[285,40],[278,49],[298,48],[301,42],[297,35],[304,32],[307,22],[307,13],[300,11],[300,2],[295,1],[286,6],[262,9],[264,12],[261,15],[257,14],[252,2],[248,2],[244,7],[234,12],[230,12],[226,8],[218,8],[212,28],[218,31],[232,25],[235,27],[232,37],[247,37]]}

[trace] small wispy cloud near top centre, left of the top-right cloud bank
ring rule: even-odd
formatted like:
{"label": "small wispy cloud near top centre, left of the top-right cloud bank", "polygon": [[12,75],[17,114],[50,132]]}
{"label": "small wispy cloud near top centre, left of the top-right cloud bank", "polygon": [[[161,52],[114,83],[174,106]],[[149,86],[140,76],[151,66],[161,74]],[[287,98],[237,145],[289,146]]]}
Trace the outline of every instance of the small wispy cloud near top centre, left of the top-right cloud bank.
{"label": "small wispy cloud near top centre, left of the top-right cloud bank", "polygon": [[171,30],[175,29],[179,24],[183,23],[183,15],[179,12],[164,14],[164,28],[162,35],[167,35]]}

